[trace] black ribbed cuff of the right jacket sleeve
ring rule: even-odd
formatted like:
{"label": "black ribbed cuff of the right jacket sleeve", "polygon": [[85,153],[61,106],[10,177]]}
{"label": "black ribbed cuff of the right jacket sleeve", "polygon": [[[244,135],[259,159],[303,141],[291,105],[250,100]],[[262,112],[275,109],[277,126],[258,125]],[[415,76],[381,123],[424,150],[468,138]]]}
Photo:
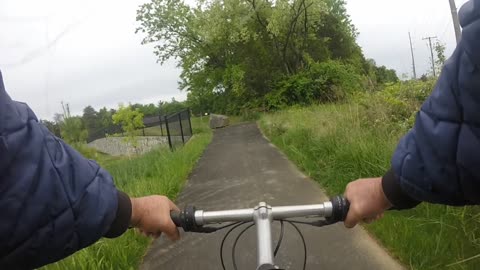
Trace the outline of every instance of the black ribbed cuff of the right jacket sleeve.
{"label": "black ribbed cuff of the right jacket sleeve", "polygon": [[382,178],[383,193],[393,205],[393,210],[411,209],[417,206],[420,201],[410,197],[400,186],[400,179],[390,169]]}

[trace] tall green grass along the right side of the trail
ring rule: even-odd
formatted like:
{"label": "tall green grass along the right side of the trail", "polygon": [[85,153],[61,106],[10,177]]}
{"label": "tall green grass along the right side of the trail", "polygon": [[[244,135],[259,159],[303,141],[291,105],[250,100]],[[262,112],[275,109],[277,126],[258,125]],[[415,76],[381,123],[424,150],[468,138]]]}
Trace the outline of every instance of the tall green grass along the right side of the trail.
{"label": "tall green grass along the right side of the trail", "polygon": [[[366,124],[365,115],[356,105],[324,105],[265,115],[259,123],[275,145],[335,195],[352,180],[383,175],[403,133],[386,123]],[[410,269],[480,265],[478,207],[422,204],[388,212],[366,228]]]}

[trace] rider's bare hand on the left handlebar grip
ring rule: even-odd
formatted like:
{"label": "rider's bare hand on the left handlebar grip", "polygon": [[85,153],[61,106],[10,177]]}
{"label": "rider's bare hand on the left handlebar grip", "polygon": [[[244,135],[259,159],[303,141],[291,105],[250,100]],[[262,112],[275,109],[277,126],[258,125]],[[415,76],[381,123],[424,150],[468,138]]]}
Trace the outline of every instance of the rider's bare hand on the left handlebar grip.
{"label": "rider's bare hand on the left handlebar grip", "polygon": [[170,218],[171,211],[180,211],[165,196],[148,196],[131,198],[131,225],[146,236],[158,238],[162,233],[172,241],[178,240],[180,234]]}

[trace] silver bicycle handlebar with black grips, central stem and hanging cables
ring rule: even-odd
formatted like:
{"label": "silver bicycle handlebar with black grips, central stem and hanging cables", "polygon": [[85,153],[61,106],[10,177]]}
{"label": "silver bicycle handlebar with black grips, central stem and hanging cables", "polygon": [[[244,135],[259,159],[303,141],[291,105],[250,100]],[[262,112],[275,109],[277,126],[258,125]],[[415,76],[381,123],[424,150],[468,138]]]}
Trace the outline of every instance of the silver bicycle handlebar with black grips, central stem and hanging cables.
{"label": "silver bicycle handlebar with black grips, central stem and hanging cables", "polygon": [[[273,245],[272,222],[274,220],[285,220],[288,218],[299,218],[299,217],[323,217],[325,218],[325,221],[320,223],[307,223],[307,222],[304,223],[312,226],[323,226],[323,225],[333,224],[339,221],[345,221],[349,208],[350,208],[350,203],[348,202],[347,199],[345,199],[343,196],[336,196],[332,198],[330,201],[324,202],[322,204],[272,207],[267,205],[264,202],[261,202],[254,208],[223,210],[223,211],[203,211],[203,210],[197,210],[194,206],[187,205],[184,208],[184,210],[180,212],[171,212],[170,216],[173,222],[175,223],[175,225],[177,225],[177,227],[182,227],[185,232],[211,233],[222,228],[234,226],[236,223],[254,222],[257,228],[257,253],[258,253],[257,254],[257,258],[258,258],[257,270],[263,270],[263,269],[280,269],[274,263],[275,255],[272,247]],[[223,226],[223,227],[204,226],[208,224],[225,223],[225,222],[232,222],[233,224]],[[292,224],[293,221],[287,220],[287,222]],[[281,224],[283,224],[283,221],[281,222]],[[230,229],[230,231],[227,233],[225,237],[227,237],[228,234],[233,229],[235,229],[240,225],[241,224],[238,224],[232,227],[232,229]],[[249,227],[251,226],[252,225],[250,225]],[[249,227],[247,227],[247,229]],[[297,231],[300,233],[298,229]],[[224,238],[224,241],[225,241],[225,238]],[[303,236],[302,236],[302,241],[304,241]],[[222,241],[221,250],[222,249],[223,249],[223,241]],[[304,242],[304,251],[305,251],[305,262],[306,262],[305,242]],[[223,253],[221,252],[221,254]],[[223,260],[222,260],[222,266],[224,266]],[[304,269],[305,269],[305,263],[304,263]]]}

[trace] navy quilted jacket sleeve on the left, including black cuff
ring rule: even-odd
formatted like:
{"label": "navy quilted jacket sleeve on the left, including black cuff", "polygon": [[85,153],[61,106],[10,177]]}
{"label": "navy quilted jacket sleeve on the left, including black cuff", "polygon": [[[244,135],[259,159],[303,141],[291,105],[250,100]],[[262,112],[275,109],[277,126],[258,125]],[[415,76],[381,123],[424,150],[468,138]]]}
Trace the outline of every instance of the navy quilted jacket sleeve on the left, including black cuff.
{"label": "navy quilted jacket sleeve on the left, including black cuff", "polygon": [[99,238],[116,237],[130,199],[107,171],[12,101],[0,74],[0,269],[58,261]]}

